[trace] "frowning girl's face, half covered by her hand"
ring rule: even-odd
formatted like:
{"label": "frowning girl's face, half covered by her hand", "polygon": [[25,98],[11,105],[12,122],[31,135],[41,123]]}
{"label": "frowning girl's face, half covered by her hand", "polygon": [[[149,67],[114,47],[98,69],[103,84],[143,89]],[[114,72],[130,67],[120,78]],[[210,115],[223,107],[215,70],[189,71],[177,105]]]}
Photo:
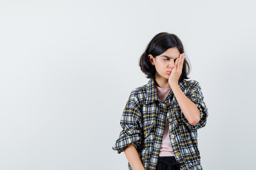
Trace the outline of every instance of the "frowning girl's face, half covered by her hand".
{"label": "frowning girl's face, half covered by her hand", "polygon": [[167,49],[164,53],[153,57],[148,55],[150,64],[155,66],[155,79],[169,79],[171,71],[174,67],[175,60],[179,57],[180,52],[177,47]]}

